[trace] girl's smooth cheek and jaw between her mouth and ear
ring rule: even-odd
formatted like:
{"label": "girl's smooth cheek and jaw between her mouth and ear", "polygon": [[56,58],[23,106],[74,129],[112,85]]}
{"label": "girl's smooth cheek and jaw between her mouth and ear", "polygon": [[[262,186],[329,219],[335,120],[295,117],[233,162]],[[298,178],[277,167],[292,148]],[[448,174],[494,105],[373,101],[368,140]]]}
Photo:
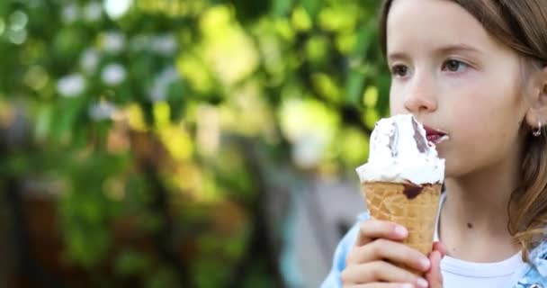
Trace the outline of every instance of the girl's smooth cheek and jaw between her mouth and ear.
{"label": "girl's smooth cheek and jaw between her mouth and ear", "polygon": [[500,89],[489,92],[492,94],[468,90],[457,95],[458,101],[445,100],[446,110],[442,113],[448,117],[453,141],[440,146],[439,153],[447,159],[447,176],[496,165],[517,153],[519,122],[524,116],[519,112],[516,95],[507,91],[504,94]]}

